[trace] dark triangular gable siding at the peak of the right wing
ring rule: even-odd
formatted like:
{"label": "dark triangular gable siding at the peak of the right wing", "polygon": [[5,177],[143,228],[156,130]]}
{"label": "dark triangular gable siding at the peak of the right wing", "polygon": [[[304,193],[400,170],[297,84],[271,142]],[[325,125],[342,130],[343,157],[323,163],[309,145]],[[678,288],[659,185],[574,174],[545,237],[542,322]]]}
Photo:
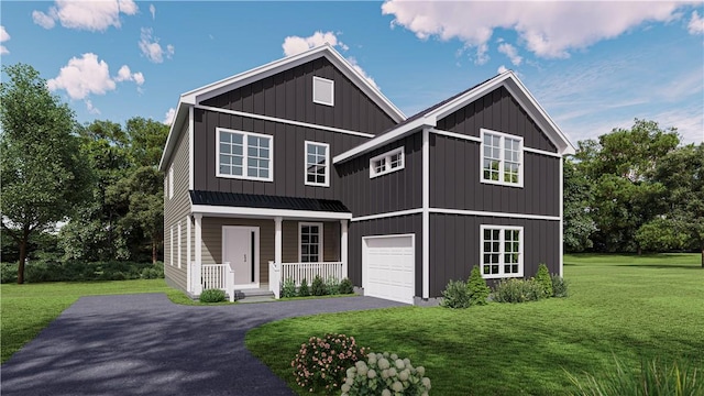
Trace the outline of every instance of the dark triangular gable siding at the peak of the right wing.
{"label": "dark triangular gable siding at the peak of the right wing", "polygon": [[524,138],[524,146],[557,153],[557,147],[538,128],[505,87],[496,88],[484,97],[438,121],[438,129],[480,136],[486,128]]}

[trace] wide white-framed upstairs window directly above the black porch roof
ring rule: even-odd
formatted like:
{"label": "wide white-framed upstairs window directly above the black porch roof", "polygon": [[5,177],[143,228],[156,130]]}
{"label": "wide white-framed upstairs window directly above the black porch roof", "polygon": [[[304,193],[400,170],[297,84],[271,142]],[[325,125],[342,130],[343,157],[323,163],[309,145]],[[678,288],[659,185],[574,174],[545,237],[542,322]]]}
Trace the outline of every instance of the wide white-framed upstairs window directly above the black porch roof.
{"label": "wide white-framed upstairs window directly above the black porch roof", "polygon": [[274,180],[274,136],[216,129],[216,175],[251,180]]}

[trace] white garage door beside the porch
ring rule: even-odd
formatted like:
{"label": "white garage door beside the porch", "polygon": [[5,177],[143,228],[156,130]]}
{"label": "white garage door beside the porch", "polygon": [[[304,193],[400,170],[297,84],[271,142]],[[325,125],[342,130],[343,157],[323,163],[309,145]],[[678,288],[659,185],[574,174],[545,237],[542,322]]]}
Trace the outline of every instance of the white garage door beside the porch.
{"label": "white garage door beside the porch", "polygon": [[415,235],[362,239],[364,295],[414,304]]}

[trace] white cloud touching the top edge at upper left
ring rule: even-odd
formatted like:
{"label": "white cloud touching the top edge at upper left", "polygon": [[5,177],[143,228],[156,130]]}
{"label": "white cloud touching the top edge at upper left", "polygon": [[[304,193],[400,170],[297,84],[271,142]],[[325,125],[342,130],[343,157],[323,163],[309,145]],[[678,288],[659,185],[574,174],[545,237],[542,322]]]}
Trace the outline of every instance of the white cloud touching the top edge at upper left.
{"label": "white cloud touching the top edge at upper left", "polygon": [[105,32],[110,26],[121,26],[121,13],[134,15],[136,11],[133,0],[56,0],[47,12],[33,11],[32,20],[44,29],[54,28],[58,21],[68,29]]}

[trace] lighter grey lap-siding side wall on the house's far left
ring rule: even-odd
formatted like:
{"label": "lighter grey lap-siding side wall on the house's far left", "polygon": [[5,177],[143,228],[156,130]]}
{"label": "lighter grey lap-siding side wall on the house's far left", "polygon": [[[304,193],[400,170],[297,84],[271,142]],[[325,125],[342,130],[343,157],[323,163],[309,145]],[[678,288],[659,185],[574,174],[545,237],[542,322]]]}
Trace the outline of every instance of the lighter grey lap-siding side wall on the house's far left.
{"label": "lighter grey lap-siding side wall on the house's far left", "polygon": [[[188,197],[188,124],[184,125],[180,132],[177,148],[172,157],[172,162],[166,168],[166,176],[170,166],[174,167],[174,196],[168,198],[164,195],[164,275],[169,284],[175,287],[187,289],[187,221],[190,212],[190,198]],[[178,222],[180,221],[180,263],[178,263]],[[172,239],[170,230],[174,230],[174,265],[172,265]]]}

